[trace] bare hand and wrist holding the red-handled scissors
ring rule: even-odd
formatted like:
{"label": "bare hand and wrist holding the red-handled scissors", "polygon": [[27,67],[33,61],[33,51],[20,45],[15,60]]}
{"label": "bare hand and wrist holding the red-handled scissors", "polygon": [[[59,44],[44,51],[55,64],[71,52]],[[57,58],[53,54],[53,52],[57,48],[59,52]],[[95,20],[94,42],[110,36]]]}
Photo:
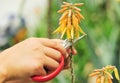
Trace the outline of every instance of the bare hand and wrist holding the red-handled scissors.
{"label": "bare hand and wrist holding the red-handled scissors", "polygon": [[[61,55],[69,68],[69,52],[60,44],[62,40],[28,38],[0,53],[0,83],[28,83],[33,75],[47,75],[54,71]],[[47,69],[47,71],[46,71]],[[18,80],[18,81],[17,81]]]}

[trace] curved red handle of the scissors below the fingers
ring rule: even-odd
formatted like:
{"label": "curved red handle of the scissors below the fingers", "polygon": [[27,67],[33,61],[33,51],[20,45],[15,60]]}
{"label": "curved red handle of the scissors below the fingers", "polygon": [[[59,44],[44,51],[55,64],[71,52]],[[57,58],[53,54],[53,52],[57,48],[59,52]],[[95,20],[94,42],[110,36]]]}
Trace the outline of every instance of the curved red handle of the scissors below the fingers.
{"label": "curved red handle of the scissors below the fingers", "polygon": [[58,68],[54,72],[52,72],[46,76],[34,75],[34,76],[32,76],[32,80],[35,82],[49,81],[49,80],[53,79],[54,77],[56,77],[62,71],[63,67],[64,67],[64,57],[62,56],[60,65],[58,66]]}

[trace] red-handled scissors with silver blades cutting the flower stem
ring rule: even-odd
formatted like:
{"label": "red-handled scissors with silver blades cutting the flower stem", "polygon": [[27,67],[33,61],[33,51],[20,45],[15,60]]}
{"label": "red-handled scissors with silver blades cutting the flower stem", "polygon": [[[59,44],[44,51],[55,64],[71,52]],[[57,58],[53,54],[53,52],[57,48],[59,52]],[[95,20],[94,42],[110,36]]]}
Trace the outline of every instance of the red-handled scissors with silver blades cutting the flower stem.
{"label": "red-handled scissors with silver blades cutting the flower stem", "polygon": [[[72,46],[78,40],[81,40],[84,36],[86,36],[86,35],[82,35],[79,38],[74,39],[72,43],[68,39],[66,39],[66,40],[64,40],[62,42],[62,45],[64,46],[65,49],[68,49],[70,46]],[[54,72],[52,72],[52,73],[50,73],[50,74],[48,74],[46,76],[34,75],[31,78],[35,82],[46,82],[46,81],[49,81],[49,80],[55,78],[62,71],[63,67],[64,67],[64,57],[61,56],[61,62],[59,64],[58,68]]]}

